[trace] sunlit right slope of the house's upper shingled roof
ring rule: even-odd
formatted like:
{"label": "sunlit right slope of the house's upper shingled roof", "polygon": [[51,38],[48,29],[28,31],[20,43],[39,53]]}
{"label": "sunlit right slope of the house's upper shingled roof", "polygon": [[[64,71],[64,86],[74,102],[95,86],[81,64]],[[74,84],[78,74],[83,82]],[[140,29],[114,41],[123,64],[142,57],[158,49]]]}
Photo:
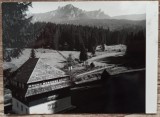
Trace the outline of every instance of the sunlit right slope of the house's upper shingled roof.
{"label": "sunlit right slope of the house's upper shingled roof", "polygon": [[49,58],[40,58],[27,83],[50,80],[68,76],[64,71],[55,67]]}

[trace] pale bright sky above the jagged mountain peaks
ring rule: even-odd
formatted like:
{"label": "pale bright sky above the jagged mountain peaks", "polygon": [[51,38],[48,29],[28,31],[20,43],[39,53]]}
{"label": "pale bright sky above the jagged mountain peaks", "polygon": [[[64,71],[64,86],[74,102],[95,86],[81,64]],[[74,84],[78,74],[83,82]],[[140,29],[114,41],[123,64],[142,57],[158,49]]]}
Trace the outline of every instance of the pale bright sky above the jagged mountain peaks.
{"label": "pale bright sky above the jagged mountain peaks", "polygon": [[58,6],[62,7],[67,4],[72,4],[86,11],[101,9],[110,16],[146,13],[145,1],[32,2],[32,7],[29,8],[28,13],[44,13],[56,10]]}

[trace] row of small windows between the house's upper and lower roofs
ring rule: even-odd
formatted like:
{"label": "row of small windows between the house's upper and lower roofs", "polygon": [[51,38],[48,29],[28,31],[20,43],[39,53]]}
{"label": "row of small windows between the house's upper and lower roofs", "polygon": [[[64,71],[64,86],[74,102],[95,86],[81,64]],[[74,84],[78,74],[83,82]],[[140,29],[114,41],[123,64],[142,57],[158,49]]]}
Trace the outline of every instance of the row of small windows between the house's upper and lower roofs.
{"label": "row of small windows between the house's upper and lower roofs", "polygon": [[53,83],[58,83],[58,82],[63,82],[63,81],[68,81],[68,80],[69,80],[69,78],[57,79],[57,80],[43,82],[43,83],[31,84],[28,87],[31,88],[31,87],[36,87],[36,86],[39,86],[39,85],[53,84]]}

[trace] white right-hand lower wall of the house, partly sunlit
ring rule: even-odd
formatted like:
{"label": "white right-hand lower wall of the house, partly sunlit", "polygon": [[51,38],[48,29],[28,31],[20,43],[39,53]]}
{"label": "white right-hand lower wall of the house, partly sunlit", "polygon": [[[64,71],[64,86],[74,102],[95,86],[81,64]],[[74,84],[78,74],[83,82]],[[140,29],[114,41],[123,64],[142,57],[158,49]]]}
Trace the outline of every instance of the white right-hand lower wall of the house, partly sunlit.
{"label": "white right-hand lower wall of the house, partly sunlit", "polygon": [[[54,105],[55,108],[49,109],[49,105]],[[42,104],[38,104],[29,108],[30,114],[53,114],[59,111],[63,111],[67,108],[72,107],[71,97],[66,97],[59,100],[49,101]]]}

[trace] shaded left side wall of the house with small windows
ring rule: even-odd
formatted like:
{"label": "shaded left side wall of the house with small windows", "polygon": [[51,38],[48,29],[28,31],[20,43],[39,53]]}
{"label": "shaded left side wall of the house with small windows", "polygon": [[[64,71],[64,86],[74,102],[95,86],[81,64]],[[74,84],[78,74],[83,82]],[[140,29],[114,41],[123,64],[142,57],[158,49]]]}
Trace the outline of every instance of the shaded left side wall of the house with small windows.
{"label": "shaded left side wall of the house with small windows", "polygon": [[[17,107],[17,102],[18,102],[18,107]],[[21,110],[21,106],[23,106],[23,110]],[[28,110],[27,112],[26,112],[26,109]],[[17,114],[28,114],[29,113],[29,108],[22,102],[15,99],[14,97],[12,97],[12,110]]]}

